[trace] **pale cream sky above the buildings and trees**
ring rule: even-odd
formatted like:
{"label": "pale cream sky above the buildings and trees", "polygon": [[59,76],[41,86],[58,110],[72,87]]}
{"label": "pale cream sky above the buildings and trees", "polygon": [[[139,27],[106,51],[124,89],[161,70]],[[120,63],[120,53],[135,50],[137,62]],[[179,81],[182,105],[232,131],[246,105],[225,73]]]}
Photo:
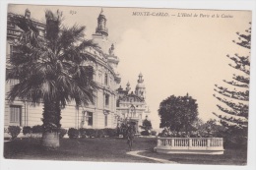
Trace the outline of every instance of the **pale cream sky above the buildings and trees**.
{"label": "pale cream sky above the buildings and trees", "polygon": [[[46,9],[59,9],[65,25],[87,27],[86,38],[92,38],[95,33],[101,10],[100,7],[16,5],[10,6],[9,12],[23,15],[27,8],[32,18],[39,21],[44,20]],[[145,12],[167,16],[144,16]],[[214,87],[224,85],[223,80],[231,80],[235,72],[228,66],[231,61],[226,54],[248,55],[248,51],[232,40],[237,38],[235,32],[250,27],[249,11],[103,8],[103,14],[107,19],[108,39],[115,44],[115,54],[120,59],[117,70],[121,85],[125,87],[129,82],[131,90],[135,90],[142,73],[146,102],[151,110],[149,118],[155,129],[160,125],[160,101],[172,94],[189,93],[197,100],[199,118],[203,121],[216,118],[212,112],[220,111],[216,106],[219,102],[213,96]]]}

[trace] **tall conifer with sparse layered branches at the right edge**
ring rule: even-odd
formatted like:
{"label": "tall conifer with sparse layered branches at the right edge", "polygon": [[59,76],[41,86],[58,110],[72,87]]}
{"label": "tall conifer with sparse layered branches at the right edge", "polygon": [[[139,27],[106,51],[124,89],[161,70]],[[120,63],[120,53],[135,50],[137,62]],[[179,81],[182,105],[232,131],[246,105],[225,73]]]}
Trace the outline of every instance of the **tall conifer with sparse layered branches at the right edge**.
{"label": "tall conifer with sparse layered branches at the right edge", "polygon": [[[231,81],[224,80],[226,86],[216,85],[215,91],[219,94],[214,96],[220,101],[217,107],[221,113],[215,113],[220,118],[221,124],[226,128],[228,140],[236,143],[247,142],[248,132],[248,108],[249,108],[249,75],[250,75],[250,48],[251,48],[251,28],[245,33],[238,35],[238,41],[233,40],[241,51],[246,49],[246,55],[234,54],[226,55],[233,63],[230,67],[235,69],[239,75],[233,74]],[[232,89],[231,89],[232,88]]]}

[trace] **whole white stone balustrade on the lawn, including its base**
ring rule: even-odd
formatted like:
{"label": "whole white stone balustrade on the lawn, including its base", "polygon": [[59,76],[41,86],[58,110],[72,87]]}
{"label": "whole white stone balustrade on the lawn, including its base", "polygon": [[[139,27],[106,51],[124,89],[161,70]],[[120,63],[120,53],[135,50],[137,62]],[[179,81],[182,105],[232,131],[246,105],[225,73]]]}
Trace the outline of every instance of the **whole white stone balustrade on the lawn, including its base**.
{"label": "whole white stone balustrade on the lawn, including its base", "polygon": [[158,138],[157,152],[224,154],[222,138]]}

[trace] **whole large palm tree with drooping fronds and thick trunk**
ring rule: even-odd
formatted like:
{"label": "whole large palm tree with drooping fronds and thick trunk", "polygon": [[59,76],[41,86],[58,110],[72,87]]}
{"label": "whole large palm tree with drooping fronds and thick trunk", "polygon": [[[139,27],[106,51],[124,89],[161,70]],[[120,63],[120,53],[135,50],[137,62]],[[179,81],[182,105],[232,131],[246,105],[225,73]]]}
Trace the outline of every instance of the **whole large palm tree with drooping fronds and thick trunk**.
{"label": "whole large palm tree with drooping fronds and thick trunk", "polygon": [[24,32],[16,42],[19,52],[7,60],[7,82],[19,82],[11,86],[8,99],[12,102],[20,98],[32,105],[43,103],[42,145],[58,147],[61,108],[73,101],[76,106],[94,103],[94,68],[86,64],[94,59],[83,50],[97,45],[84,39],[85,27],[63,26],[59,11],[54,14],[46,10],[45,19],[42,37],[30,19],[19,15],[10,18]]}

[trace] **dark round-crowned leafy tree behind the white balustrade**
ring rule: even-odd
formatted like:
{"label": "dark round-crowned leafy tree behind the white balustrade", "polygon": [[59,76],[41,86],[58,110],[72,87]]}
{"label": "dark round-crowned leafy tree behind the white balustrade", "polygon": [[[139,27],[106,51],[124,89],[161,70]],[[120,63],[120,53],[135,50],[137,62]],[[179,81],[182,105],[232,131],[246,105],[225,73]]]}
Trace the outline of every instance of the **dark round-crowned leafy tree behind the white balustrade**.
{"label": "dark round-crowned leafy tree behind the white balustrade", "polygon": [[176,132],[183,129],[188,134],[193,122],[197,120],[197,107],[196,100],[188,94],[167,97],[160,102],[160,128],[167,127]]}

